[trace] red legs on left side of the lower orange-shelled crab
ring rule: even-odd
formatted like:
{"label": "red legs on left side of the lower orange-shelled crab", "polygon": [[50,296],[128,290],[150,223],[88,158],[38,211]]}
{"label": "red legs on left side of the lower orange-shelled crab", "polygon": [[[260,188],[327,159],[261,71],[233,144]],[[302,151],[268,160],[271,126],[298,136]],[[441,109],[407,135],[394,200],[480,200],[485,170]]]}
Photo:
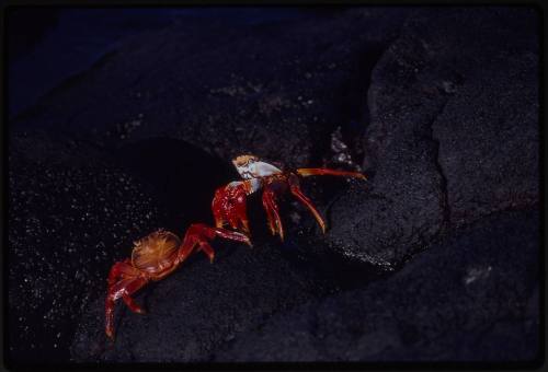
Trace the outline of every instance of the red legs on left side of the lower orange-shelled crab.
{"label": "red legs on left side of the lower orange-shelled crab", "polygon": [[140,277],[140,271],[134,268],[128,259],[118,261],[111,268],[105,299],[105,333],[111,339],[114,339],[114,306],[116,300],[122,298],[133,312],[142,314],[145,311],[135,303],[130,294],[138,291],[147,282],[148,280]]}

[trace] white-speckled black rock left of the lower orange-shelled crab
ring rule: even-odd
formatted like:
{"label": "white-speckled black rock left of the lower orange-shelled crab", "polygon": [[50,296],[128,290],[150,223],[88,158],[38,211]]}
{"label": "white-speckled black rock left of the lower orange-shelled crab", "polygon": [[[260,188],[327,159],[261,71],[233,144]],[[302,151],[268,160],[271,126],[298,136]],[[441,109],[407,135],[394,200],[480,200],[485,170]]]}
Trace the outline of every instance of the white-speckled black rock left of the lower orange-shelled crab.
{"label": "white-speckled black rock left of the lower orange-shelled crab", "polygon": [[38,131],[10,137],[9,189],[8,358],[64,361],[110,265],[161,225],[157,202],[98,149]]}

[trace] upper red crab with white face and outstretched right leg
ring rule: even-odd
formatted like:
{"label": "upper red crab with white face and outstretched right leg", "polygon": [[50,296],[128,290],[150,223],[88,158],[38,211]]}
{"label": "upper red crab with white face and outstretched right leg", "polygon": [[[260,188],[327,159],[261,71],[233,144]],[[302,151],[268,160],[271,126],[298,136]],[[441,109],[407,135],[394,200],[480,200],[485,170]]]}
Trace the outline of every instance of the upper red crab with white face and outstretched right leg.
{"label": "upper red crab with white face and outstretched right leg", "polygon": [[329,168],[304,167],[284,172],[272,164],[260,161],[254,155],[238,156],[232,160],[232,164],[243,181],[231,182],[218,188],[215,193],[212,209],[217,228],[228,224],[232,229],[249,235],[246,197],[262,188],[262,201],[266,211],[269,228],[272,234],[278,234],[282,241],[284,240],[284,228],[279,218],[277,201],[287,191],[310,210],[322,232],[326,232],[326,222],[312,201],[300,189],[301,177],[332,175],[365,179],[365,175],[362,173]]}

